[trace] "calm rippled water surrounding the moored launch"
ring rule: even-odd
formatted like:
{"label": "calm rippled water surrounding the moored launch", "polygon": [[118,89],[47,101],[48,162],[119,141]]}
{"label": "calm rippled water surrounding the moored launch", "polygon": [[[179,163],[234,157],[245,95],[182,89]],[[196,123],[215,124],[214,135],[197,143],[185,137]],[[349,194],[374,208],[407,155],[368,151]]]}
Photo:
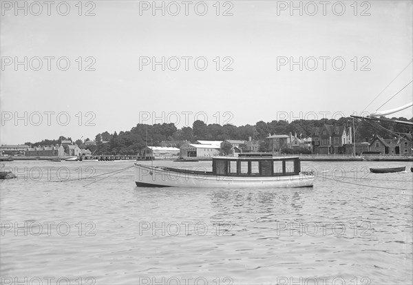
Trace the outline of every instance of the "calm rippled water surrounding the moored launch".
{"label": "calm rippled water surrounding the moored launch", "polygon": [[3,284],[412,284],[412,162],[302,162],[326,178],[276,190],[88,178],[133,162],[2,164],[18,176],[0,184]]}

